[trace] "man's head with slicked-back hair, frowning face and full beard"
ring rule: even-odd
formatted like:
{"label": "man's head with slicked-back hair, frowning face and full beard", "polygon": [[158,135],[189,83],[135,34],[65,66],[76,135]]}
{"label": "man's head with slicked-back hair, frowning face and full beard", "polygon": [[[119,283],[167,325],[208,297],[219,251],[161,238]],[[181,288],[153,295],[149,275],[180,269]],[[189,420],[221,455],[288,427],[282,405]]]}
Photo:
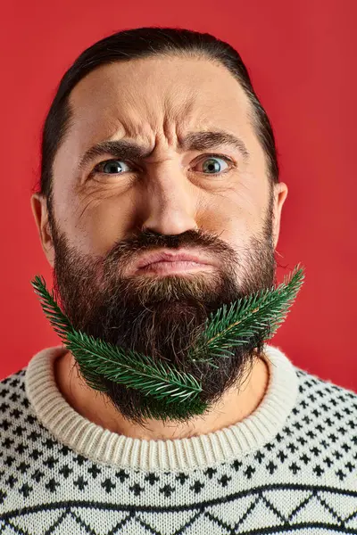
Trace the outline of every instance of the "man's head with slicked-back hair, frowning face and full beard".
{"label": "man's head with slicked-back hair, frowning face and full beard", "polygon": [[[286,193],[238,53],[207,34],[152,28],[105,38],[64,75],[31,203],[72,325],[195,374],[213,402],[261,345],[210,370],[190,366],[187,348],[211,311],[274,284]],[[178,250],[208,265],[137,266]],[[150,399],[103,382],[140,421]]]}

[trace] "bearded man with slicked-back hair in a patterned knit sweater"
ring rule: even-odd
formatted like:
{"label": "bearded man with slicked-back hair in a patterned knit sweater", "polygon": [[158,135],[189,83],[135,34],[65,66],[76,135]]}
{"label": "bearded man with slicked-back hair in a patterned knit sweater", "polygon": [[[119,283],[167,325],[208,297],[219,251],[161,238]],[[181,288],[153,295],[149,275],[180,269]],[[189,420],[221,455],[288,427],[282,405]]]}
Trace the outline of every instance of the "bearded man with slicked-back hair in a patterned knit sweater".
{"label": "bearded man with slicked-back hair in a patterned knit sweater", "polygon": [[[149,28],[62,78],[31,207],[71,324],[181,373],[210,312],[274,284],[286,194],[239,54]],[[181,419],[41,350],[1,383],[0,531],[357,533],[357,394],[262,342],[198,363],[210,409]]]}

